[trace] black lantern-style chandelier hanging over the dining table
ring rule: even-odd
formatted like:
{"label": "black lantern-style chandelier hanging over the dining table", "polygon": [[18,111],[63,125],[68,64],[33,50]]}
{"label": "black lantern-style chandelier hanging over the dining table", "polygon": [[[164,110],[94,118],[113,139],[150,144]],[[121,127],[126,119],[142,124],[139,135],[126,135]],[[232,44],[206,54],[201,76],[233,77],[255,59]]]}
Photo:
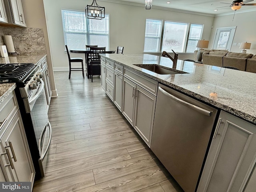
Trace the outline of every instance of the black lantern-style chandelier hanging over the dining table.
{"label": "black lantern-style chandelier hanging over the dining table", "polygon": [[86,6],[85,15],[88,19],[103,19],[105,18],[105,7],[99,6],[96,0],[93,0],[92,4]]}

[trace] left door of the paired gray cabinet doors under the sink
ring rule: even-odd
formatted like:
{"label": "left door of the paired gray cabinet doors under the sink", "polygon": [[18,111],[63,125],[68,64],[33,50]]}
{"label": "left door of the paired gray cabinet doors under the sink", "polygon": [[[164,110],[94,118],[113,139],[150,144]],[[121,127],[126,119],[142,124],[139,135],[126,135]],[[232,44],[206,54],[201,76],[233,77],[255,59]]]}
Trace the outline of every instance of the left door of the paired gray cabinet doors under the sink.
{"label": "left door of the paired gray cabinet doors under the sink", "polygon": [[123,81],[123,100],[122,100],[122,114],[130,122],[134,124],[134,105],[135,105],[135,88],[136,84],[124,78]]}

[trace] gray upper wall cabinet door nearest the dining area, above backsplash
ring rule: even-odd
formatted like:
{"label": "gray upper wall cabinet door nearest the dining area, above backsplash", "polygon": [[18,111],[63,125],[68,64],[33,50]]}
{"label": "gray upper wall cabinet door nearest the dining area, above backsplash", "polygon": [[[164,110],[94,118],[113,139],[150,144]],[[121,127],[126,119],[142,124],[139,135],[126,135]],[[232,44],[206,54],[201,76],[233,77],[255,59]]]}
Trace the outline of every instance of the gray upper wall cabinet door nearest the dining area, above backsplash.
{"label": "gray upper wall cabinet door nearest the dining area, above backsplash", "polygon": [[8,22],[22,27],[27,27],[22,0],[5,0]]}

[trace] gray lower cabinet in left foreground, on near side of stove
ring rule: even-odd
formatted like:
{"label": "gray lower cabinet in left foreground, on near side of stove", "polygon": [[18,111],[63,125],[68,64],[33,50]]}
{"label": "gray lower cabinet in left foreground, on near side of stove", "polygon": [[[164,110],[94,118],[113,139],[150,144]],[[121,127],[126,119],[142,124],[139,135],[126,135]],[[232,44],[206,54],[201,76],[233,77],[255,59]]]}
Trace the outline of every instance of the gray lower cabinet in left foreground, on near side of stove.
{"label": "gray lower cabinet in left foreground, on near side of stove", "polygon": [[35,170],[14,93],[1,104],[0,114],[6,116],[0,126],[1,181],[34,182]]}

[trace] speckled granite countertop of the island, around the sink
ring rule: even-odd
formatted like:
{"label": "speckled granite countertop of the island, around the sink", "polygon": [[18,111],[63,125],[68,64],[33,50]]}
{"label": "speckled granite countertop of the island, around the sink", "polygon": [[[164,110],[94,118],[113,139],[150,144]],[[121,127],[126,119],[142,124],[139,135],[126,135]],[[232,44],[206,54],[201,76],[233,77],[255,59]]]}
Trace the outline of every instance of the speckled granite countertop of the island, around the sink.
{"label": "speckled granite countertop of the island, around the sink", "polygon": [[149,54],[102,56],[256,124],[255,73],[178,60],[176,70],[188,74],[159,75],[133,64],[158,64],[172,68],[172,61],[169,58]]}

